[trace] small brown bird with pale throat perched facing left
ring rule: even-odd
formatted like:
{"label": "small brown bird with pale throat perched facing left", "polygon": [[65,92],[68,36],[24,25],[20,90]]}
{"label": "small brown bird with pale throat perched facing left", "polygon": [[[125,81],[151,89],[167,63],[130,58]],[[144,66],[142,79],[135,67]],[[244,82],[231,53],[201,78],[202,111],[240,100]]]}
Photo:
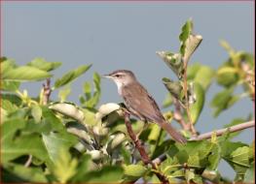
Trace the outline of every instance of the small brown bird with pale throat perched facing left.
{"label": "small brown bird with pale throat perched facing left", "polygon": [[137,81],[132,72],[128,70],[114,71],[104,77],[111,78],[118,86],[118,93],[123,97],[128,111],[142,121],[158,123],[172,138],[181,143],[186,143],[183,138],[169,123],[160,111],[155,100],[147,90]]}

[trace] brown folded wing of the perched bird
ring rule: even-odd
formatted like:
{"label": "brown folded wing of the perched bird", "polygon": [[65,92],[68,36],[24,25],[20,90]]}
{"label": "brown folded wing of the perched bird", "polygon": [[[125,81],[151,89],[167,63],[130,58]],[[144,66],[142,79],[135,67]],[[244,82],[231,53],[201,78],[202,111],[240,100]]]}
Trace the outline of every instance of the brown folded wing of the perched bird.
{"label": "brown folded wing of the perched bird", "polygon": [[132,108],[147,120],[161,122],[165,119],[155,100],[140,84],[125,86],[122,95],[128,108]]}

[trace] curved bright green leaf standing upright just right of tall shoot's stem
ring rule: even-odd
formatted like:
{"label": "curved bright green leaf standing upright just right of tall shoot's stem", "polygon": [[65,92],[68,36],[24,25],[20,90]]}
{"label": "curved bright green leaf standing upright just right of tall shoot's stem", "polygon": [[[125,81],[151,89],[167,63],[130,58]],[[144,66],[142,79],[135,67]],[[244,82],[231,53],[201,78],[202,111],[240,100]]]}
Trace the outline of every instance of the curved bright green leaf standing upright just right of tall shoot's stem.
{"label": "curved bright green leaf standing upright just right of tall shoot's stem", "polygon": [[201,110],[204,104],[205,93],[203,88],[201,87],[201,84],[198,82],[194,83],[194,92],[196,94],[196,103],[190,107],[190,113],[192,122],[195,124],[201,114]]}

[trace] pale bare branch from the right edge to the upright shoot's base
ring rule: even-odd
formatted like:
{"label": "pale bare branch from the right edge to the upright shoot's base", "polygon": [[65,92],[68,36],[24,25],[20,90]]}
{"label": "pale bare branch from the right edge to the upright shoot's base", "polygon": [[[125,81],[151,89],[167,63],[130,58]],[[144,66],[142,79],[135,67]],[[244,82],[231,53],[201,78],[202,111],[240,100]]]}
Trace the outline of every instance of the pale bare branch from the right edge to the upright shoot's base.
{"label": "pale bare branch from the right edge to the upright shoot's base", "polygon": [[227,131],[229,131],[231,133],[234,133],[234,132],[238,132],[238,131],[241,131],[243,129],[248,129],[248,128],[251,128],[251,127],[254,127],[254,126],[255,126],[254,121],[248,121],[248,122],[241,123],[241,124],[238,124],[238,125],[234,125],[232,127],[228,127],[228,128],[225,128],[225,129],[220,129],[220,130],[217,130],[217,131],[204,133],[204,134],[198,136],[197,138],[190,138],[189,140],[208,139],[208,138],[211,138],[212,134],[216,134],[216,136],[219,137],[219,136],[222,136]]}

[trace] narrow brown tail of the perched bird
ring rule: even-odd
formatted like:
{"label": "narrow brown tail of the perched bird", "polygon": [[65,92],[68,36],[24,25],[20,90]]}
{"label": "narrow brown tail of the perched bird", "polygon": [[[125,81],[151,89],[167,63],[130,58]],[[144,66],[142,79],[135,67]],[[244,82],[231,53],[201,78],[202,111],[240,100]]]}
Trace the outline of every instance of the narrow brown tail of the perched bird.
{"label": "narrow brown tail of the perched bird", "polygon": [[169,123],[163,121],[159,122],[159,125],[176,141],[183,144],[187,142],[187,139],[177,132]]}

